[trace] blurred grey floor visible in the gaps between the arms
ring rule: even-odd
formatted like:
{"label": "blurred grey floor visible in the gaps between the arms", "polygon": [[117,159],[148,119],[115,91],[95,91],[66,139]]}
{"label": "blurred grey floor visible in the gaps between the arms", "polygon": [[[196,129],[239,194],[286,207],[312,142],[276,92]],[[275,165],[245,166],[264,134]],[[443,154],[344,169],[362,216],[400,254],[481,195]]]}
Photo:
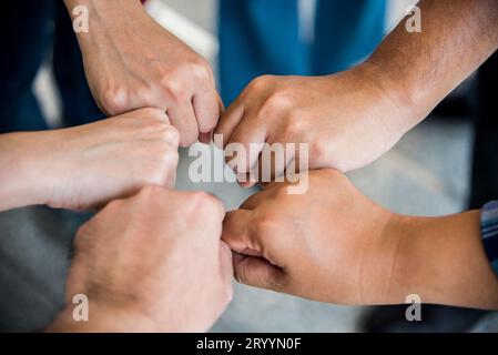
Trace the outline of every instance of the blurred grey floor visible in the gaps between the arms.
{"label": "blurred grey floor visible in the gaps between the arms", "polygon": [[[165,2],[204,28],[214,28],[214,2]],[[55,99],[45,94],[43,81],[40,88],[50,106]],[[396,212],[440,215],[461,211],[468,194],[471,134],[468,121],[428,119],[384,158],[350,178],[367,195]],[[226,183],[192,184],[186,179],[189,162],[182,152],[179,189],[211,191],[228,210],[254,192]],[[0,329],[39,329],[57,314],[71,240],[85,217],[47,207],[0,214]],[[235,298],[214,332],[354,332],[365,311],[235,287]],[[477,329],[492,328],[482,325]]]}

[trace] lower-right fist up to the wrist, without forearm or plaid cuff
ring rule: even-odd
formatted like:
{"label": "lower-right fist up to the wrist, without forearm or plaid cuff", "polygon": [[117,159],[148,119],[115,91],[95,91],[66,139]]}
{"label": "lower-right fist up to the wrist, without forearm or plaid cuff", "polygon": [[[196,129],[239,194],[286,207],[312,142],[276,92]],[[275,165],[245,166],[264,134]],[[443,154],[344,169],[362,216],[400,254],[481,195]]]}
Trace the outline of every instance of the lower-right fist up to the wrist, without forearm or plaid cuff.
{"label": "lower-right fist up to the wrist, without forearm or plaid cuff", "polygon": [[[344,175],[311,171],[305,194],[288,194],[286,183],[271,183],[241,210],[228,212],[223,240],[237,253],[235,277],[244,284],[363,304],[389,287],[389,219],[388,211],[364,197]],[[372,277],[378,292],[364,293]]]}

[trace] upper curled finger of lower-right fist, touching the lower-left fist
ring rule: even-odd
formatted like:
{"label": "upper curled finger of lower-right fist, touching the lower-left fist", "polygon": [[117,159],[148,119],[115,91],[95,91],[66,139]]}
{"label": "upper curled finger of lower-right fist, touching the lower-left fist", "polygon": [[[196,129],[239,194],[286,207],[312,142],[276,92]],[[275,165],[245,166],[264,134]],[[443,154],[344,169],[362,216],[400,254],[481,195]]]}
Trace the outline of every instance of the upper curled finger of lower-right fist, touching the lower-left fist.
{"label": "upper curled finger of lower-right fist, touching the lower-left fist", "polygon": [[251,211],[237,210],[226,213],[225,220],[223,221],[222,240],[234,252],[258,255],[261,247],[251,240]]}

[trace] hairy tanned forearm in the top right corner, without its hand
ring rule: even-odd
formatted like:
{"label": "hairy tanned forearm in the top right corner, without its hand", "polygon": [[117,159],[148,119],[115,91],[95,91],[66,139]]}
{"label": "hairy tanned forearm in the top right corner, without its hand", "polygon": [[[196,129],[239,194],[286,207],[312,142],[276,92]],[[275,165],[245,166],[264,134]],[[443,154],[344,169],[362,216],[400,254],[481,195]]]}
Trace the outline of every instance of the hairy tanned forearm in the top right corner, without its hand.
{"label": "hairy tanned forearm in the top right corner, without its hand", "polygon": [[366,63],[397,104],[408,108],[405,132],[498,48],[496,0],[423,0],[418,6],[421,32],[409,33],[405,19]]}

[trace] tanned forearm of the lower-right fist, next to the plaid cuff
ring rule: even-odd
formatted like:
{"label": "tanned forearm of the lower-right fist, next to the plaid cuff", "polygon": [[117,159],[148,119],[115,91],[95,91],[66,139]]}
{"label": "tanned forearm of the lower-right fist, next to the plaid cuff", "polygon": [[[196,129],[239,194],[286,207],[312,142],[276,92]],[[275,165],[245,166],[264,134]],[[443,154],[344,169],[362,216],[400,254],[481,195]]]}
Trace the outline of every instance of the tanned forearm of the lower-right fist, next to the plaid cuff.
{"label": "tanned forearm of the lower-right fist, next to the plaid cuff", "polygon": [[486,256],[479,211],[444,217],[400,216],[389,298],[498,310],[498,277]]}

